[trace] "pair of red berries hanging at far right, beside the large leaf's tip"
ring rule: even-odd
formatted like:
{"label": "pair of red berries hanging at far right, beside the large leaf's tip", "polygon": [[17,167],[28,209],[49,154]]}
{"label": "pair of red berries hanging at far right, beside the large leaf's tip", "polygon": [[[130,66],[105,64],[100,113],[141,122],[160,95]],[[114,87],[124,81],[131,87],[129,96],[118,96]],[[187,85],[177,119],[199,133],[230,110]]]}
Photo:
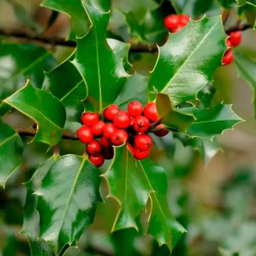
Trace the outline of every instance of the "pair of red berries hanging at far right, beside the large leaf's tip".
{"label": "pair of red berries hanging at far right, beside the large leaf's tip", "polygon": [[228,33],[229,38],[227,39],[227,46],[229,49],[225,52],[223,59],[222,59],[222,64],[223,65],[228,65],[231,64],[234,60],[234,55],[232,53],[232,47],[239,46],[242,41],[242,33],[241,31],[234,31],[231,33]]}

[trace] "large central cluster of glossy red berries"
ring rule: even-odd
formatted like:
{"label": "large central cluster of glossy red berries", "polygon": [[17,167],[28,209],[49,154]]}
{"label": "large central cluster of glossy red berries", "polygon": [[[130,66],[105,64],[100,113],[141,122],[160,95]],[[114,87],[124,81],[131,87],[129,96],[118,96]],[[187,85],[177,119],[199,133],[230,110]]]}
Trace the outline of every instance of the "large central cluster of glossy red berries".
{"label": "large central cluster of glossy red berries", "polygon": [[[169,132],[163,125],[157,124],[158,113],[154,102],[147,103],[143,108],[139,101],[132,101],[127,110],[110,105],[103,111],[102,117],[91,112],[81,115],[83,126],[78,129],[77,137],[86,144],[89,160],[97,167],[103,165],[105,159],[114,157],[113,146],[125,142],[133,157],[143,160],[149,156],[153,144],[147,132],[151,131],[160,137]],[[151,129],[151,124],[156,124],[156,127]]]}

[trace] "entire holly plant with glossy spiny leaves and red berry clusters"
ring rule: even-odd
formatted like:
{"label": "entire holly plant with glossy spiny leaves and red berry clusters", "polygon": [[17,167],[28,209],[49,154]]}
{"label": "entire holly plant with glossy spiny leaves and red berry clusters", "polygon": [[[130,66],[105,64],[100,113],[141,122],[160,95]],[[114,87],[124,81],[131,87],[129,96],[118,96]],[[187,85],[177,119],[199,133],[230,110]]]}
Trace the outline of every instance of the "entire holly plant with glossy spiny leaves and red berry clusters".
{"label": "entire holly plant with glossy spiny leaves and red berry clusters", "polygon": [[[21,189],[12,211],[23,217],[10,234],[31,256],[185,255],[175,254],[190,230],[171,206],[170,145],[192,148],[206,168],[218,138],[244,121],[216,73],[235,64],[255,90],[240,45],[256,3],[44,0],[43,23],[9,4],[22,26],[0,29],[0,185],[5,199]],[[110,251],[94,248],[94,230]],[[133,243],[144,238],[147,253]]]}

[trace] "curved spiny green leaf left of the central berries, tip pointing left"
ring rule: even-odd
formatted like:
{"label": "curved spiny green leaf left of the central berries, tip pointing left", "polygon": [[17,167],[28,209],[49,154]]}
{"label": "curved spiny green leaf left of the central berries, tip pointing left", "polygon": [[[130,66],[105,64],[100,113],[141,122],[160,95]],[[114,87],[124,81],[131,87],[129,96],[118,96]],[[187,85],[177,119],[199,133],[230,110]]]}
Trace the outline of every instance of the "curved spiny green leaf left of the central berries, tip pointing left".
{"label": "curved spiny green leaf left of the central berries, tip pointing left", "polygon": [[50,146],[62,138],[66,113],[63,104],[49,92],[34,88],[28,81],[3,103],[20,111],[37,123],[37,133],[33,141],[41,141]]}

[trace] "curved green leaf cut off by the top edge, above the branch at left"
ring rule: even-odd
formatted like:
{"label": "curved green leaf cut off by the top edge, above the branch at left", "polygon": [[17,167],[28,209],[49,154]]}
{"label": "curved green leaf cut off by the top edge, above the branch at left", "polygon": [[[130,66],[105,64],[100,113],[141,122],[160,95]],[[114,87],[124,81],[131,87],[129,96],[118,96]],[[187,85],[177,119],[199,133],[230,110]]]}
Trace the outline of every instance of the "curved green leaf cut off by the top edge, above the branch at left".
{"label": "curved green leaf cut off by the top edge, above the branch at left", "polygon": [[68,15],[71,19],[71,32],[77,37],[81,38],[88,33],[91,21],[81,0],[45,0],[41,6]]}

